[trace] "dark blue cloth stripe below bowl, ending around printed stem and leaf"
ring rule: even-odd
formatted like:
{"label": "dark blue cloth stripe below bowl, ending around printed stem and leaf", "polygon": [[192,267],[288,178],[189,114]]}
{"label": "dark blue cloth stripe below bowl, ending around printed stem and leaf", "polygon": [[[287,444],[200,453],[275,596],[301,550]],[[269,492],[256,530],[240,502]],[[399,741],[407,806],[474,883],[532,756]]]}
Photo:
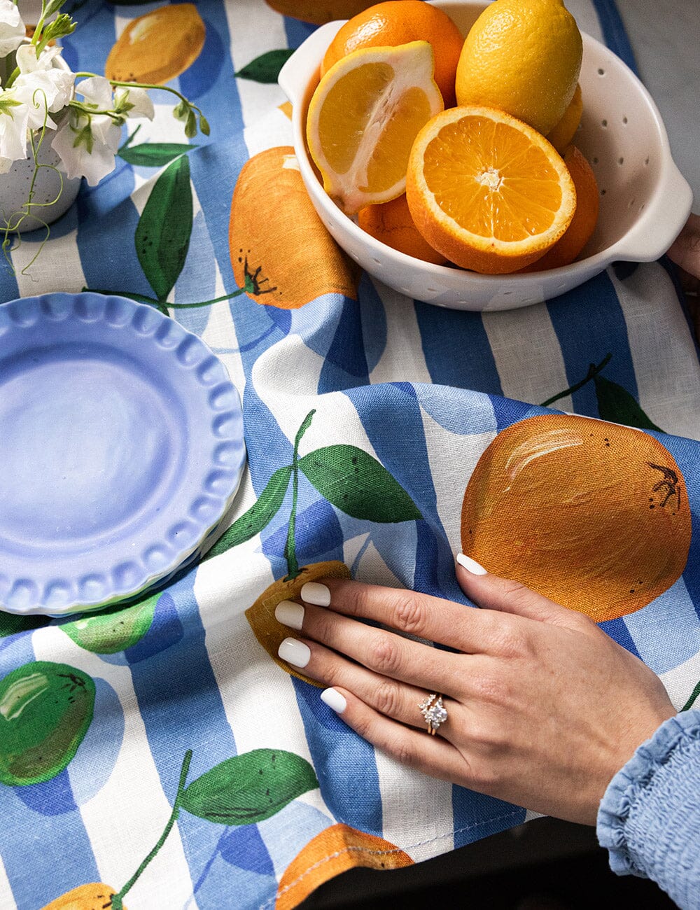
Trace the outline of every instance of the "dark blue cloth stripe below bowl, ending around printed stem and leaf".
{"label": "dark blue cloth stripe below bowl, ending around printed stem and leaf", "polygon": [[[592,364],[612,353],[602,375],[639,398],[624,313],[606,273],[550,301],[547,309],[570,386],[584,379]],[[572,400],[575,413],[599,416],[593,382],[573,392]]]}

